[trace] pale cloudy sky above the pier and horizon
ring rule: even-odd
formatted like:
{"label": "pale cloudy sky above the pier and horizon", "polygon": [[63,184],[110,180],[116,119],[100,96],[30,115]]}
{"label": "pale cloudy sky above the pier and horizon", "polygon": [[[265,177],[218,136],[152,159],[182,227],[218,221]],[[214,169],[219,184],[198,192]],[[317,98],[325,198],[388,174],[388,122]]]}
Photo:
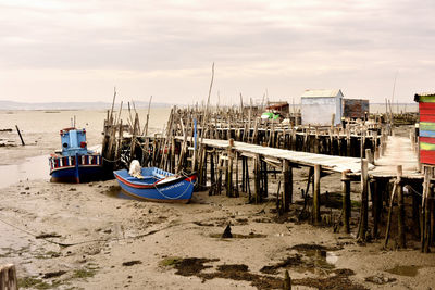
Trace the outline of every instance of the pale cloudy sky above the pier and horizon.
{"label": "pale cloudy sky above the pier and horizon", "polygon": [[0,0],[0,100],[111,102],[116,87],[200,103],[214,62],[212,103],[412,102],[435,91],[434,15],[433,0]]}

